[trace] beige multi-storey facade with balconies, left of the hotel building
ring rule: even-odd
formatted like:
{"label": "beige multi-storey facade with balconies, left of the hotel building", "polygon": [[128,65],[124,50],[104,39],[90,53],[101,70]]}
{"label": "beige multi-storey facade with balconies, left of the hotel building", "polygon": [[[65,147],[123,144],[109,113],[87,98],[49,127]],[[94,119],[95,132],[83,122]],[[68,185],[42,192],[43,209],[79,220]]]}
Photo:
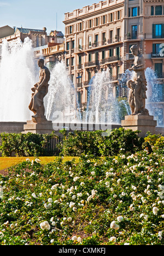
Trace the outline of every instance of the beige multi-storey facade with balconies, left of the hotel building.
{"label": "beige multi-storey facade with balconies, left of the hotel building", "polygon": [[65,61],[81,106],[96,72],[110,68],[114,85],[124,72],[124,1],[104,1],[65,14]]}

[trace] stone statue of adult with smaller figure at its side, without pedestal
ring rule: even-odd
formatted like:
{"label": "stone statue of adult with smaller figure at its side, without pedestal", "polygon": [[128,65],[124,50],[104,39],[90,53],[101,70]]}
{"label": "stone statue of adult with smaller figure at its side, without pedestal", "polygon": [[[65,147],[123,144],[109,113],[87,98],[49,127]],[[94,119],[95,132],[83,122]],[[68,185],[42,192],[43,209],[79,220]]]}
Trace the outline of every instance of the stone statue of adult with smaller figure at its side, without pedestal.
{"label": "stone statue of adult with smaller figure at its side, without pedestal", "polygon": [[132,115],[149,115],[145,108],[147,98],[147,80],[145,78],[145,61],[142,54],[139,53],[138,45],[132,45],[131,52],[135,56],[134,65],[130,70],[134,71],[133,80],[127,81],[130,88],[129,104]]}

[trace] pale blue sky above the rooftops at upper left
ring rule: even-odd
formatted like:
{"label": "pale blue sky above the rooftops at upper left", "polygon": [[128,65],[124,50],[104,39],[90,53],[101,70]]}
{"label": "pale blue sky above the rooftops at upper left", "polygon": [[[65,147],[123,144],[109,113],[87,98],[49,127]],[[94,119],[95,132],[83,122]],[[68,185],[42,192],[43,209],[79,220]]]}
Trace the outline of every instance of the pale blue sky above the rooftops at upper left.
{"label": "pale blue sky above the rooftops at upper left", "polygon": [[0,27],[47,28],[49,33],[56,29],[65,33],[65,13],[81,9],[99,0],[0,0]]}

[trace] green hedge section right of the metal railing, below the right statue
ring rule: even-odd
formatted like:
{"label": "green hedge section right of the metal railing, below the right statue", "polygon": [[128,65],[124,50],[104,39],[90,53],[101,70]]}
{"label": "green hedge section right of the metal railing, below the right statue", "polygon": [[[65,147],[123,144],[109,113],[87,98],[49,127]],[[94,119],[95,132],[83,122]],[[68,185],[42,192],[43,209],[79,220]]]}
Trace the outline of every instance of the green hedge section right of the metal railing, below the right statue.
{"label": "green hedge section right of the metal railing, below the right statue", "polygon": [[124,152],[137,152],[142,148],[143,138],[138,137],[138,131],[123,128],[107,131],[108,136],[103,136],[102,131],[75,131],[65,135],[61,147],[62,155],[80,156],[91,154],[96,156],[117,155],[120,150]]}

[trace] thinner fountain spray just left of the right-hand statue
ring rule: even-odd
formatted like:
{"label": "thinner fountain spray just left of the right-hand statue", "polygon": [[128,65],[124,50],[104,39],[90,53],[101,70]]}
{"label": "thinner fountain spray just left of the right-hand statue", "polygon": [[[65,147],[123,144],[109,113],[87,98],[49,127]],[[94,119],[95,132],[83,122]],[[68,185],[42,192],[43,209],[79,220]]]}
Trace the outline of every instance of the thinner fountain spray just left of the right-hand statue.
{"label": "thinner fountain spray just left of the right-hand statue", "polygon": [[[129,74],[127,72],[124,75],[120,87],[126,83]],[[87,102],[86,117],[89,123],[120,124],[122,114],[130,114],[127,100],[123,98],[118,100],[116,90],[109,69],[96,73],[92,83],[90,83]]]}

